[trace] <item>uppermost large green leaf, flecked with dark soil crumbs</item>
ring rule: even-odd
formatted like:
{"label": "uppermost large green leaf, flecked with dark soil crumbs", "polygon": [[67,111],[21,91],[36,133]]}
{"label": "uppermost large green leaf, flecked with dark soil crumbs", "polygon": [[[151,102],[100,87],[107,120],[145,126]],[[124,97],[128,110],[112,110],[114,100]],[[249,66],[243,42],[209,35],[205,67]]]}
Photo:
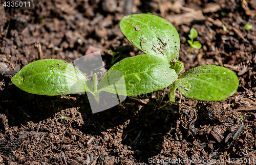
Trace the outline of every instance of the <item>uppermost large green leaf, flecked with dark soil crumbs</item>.
{"label": "uppermost large green leaf, flecked with dark soil crumbs", "polygon": [[131,43],[146,54],[168,63],[179,56],[179,34],[170,22],[161,17],[153,14],[124,16],[120,29]]}

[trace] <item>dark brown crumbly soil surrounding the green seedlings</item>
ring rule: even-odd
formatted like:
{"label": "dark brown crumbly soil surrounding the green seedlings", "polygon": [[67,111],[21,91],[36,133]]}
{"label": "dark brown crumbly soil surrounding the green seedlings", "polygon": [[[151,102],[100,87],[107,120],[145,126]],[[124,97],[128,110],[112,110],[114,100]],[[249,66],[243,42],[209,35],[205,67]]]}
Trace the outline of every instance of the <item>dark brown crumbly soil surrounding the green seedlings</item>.
{"label": "dark brown crumbly soil surrounding the green seedlings", "polygon": [[[255,0],[42,0],[6,17],[2,3],[0,164],[151,164],[151,159],[185,158],[255,164],[255,10]],[[37,41],[45,59],[67,62],[100,49],[106,69],[112,65],[109,48],[119,51],[118,61],[141,54],[121,33],[119,21],[146,12],[177,28],[183,72],[201,65],[224,66],[238,75],[238,91],[215,102],[188,99],[178,91],[181,104],[170,104],[167,97],[127,98],[92,114],[87,96],[33,95],[11,83],[13,74],[40,58]],[[248,22],[252,29],[246,31]],[[198,31],[196,40],[203,47],[188,56],[191,28]]]}

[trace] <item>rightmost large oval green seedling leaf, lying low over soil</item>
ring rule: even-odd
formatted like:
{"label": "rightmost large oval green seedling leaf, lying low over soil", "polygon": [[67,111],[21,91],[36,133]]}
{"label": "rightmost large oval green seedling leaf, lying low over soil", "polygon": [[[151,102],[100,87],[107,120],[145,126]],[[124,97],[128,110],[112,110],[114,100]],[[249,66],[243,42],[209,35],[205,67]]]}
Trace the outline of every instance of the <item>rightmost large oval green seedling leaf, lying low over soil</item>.
{"label": "rightmost large oval green seedling leaf, lying low over soil", "polygon": [[205,65],[186,71],[177,79],[176,85],[188,98],[219,101],[237,91],[239,80],[237,75],[229,69]]}

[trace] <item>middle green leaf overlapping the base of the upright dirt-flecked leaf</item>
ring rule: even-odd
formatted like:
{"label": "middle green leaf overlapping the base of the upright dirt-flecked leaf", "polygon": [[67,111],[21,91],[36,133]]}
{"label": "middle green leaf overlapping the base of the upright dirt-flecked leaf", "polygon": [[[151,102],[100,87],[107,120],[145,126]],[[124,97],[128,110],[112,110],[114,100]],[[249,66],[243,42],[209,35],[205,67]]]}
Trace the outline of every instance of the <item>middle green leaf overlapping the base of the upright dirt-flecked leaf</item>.
{"label": "middle green leaf overlapping the base of the upright dirt-flecked leaf", "polygon": [[[108,76],[109,72],[113,72]],[[117,72],[115,72],[117,71]],[[164,60],[150,54],[125,58],[113,65],[98,85],[99,91],[134,96],[168,87],[177,79],[175,70]],[[124,78],[125,81],[119,81]]]}

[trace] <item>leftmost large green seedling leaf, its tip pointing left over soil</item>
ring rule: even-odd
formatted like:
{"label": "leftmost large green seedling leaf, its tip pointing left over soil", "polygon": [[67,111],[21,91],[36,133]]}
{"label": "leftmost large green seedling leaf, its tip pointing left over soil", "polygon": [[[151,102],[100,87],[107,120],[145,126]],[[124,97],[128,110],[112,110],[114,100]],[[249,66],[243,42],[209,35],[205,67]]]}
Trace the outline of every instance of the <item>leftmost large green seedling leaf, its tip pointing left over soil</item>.
{"label": "leftmost large green seedling leaf, its tip pointing left over soil", "polygon": [[61,60],[38,60],[26,65],[11,81],[18,88],[38,95],[92,92],[90,80],[73,65]]}

